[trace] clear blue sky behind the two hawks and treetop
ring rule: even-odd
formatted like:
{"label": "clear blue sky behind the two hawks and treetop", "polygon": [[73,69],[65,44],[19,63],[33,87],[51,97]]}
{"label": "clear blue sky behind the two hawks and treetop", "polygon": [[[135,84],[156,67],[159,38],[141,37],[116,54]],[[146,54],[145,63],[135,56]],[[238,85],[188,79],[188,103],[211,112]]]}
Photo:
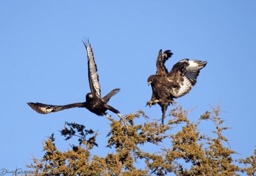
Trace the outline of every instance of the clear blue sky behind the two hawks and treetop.
{"label": "clear blue sky behind the two hawks and treetop", "polygon": [[[207,60],[197,84],[177,99],[195,121],[219,101],[231,149],[241,158],[255,142],[255,41],[253,0],[1,0],[0,1],[0,168],[25,168],[42,156],[42,140],[56,135],[65,121],[99,129],[104,156],[108,120],[86,109],[40,115],[26,102],[83,102],[89,92],[86,52],[90,39],[102,95],[121,88],[109,102],[122,114],[143,110],[160,118],[159,106],[144,107],[151,97],[147,77],[156,71],[160,48],[174,53],[170,69],[183,59]],[[170,107],[168,108],[170,110]],[[110,114],[110,113],[109,113]],[[208,123],[202,129],[208,129]]]}

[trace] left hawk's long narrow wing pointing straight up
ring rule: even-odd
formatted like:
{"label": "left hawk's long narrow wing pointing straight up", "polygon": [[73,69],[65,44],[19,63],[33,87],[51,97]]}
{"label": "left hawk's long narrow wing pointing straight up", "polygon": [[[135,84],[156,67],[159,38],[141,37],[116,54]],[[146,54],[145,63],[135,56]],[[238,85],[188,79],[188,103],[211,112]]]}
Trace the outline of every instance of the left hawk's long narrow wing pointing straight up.
{"label": "left hawk's long narrow wing pointing straight up", "polygon": [[98,74],[97,74],[97,66],[94,60],[92,48],[90,47],[89,40],[83,41],[83,44],[87,51],[87,58],[88,58],[88,78],[89,78],[89,85],[91,93],[96,94],[98,98],[101,98],[100,95],[100,85],[98,82]]}

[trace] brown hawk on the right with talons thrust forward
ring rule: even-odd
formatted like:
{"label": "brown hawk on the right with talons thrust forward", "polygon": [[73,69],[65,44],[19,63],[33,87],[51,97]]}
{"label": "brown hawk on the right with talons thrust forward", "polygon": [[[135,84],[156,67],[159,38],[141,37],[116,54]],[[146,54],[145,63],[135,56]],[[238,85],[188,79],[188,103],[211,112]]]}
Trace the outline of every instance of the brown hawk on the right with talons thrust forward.
{"label": "brown hawk on the right with talons thrust forward", "polygon": [[164,63],[172,54],[170,50],[162,53],[160,49],[156,59],[156,74],[147,79],[147,84],[152,87],[152,97],[146,105],[151,107],[157,103],[161,107],[162,124],[166,109],[172,104],[173,98],[187,94],[195,85],[200,70],[207,64],[206,61],[183,59],[168,72]]}

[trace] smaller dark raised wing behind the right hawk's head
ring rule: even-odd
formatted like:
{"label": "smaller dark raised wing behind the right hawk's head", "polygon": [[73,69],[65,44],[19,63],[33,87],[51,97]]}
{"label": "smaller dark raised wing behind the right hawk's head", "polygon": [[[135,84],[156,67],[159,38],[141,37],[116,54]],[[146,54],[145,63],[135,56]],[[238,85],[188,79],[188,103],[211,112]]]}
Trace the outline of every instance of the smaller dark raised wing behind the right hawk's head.
{"label": "smaller dark raised wing behind the right hawk's head", "polygon": [[164,63],[166,60],[168,60],[168,58],[171,57],[172,54],[173,53],[170,52],[170,50],[166,50],[163,53],[161,49],[158,51],[158,56],[156,59],[156,75],[165,76],[168,74],[168,70],[164,66]]}

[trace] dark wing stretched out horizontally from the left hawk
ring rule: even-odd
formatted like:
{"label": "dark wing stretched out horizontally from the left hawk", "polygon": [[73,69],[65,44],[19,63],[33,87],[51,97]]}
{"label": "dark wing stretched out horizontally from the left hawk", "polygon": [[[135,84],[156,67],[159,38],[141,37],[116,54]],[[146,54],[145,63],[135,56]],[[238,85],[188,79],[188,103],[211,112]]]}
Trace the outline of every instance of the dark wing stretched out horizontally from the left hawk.
{"label": "dark wing stretched out horizontally from the left hawk", "polygon": [[61,111],[64,109],[69,109],[69,108],[82,108],[85,107],[84,103],[72,103],[68,105],[63,105],[63,106],[57,106],[57,105],[46,105],[42,103],[27,103],[33,110],[35,110],[37,113],[40,114],[48,114],[51,112],[57,112]]}

